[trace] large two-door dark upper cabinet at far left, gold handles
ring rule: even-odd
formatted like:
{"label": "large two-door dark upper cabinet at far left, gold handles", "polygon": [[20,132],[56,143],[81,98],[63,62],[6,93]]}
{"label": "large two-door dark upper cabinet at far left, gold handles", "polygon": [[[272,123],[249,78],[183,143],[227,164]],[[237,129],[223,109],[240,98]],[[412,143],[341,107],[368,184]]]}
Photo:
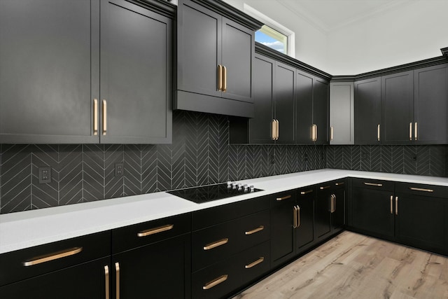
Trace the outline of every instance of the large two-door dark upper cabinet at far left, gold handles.
{"label": "large two-door dark upper cabinet at far left, gold handles", "polygon": [[174,11],[1,1],[0,142],[170,143]]}

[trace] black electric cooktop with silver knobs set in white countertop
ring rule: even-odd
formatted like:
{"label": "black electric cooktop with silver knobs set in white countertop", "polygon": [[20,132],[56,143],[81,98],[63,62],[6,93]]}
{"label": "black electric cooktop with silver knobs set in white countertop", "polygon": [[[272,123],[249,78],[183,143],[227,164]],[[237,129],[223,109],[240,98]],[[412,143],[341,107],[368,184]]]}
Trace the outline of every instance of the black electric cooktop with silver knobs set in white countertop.
{"label": "black electric cooktop with silver knobs set in white countertop", "polygon": [[253,193],[262,191],[256,188],[232,188],[227,183],[220,183],[217,185],[209,185],[202,187],[193,187],[186,189],[179,189],[168,191],[167,193],[182,197],[191,202],[196,202],[197,204],[202,204],[203,202],[211,202],[213,200],[221,200],[223,198],[243,195],[246,193]]}

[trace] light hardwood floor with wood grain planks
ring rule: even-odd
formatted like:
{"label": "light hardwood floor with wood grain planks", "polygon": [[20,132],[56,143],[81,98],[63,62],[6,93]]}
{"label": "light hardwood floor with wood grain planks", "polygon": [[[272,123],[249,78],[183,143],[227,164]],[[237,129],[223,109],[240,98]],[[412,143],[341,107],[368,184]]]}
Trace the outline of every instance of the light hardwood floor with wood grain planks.
{"label": "light hardwood floor with wood grain planks", "polygon": [[448,298],[448,258],[342,232],[240,298]]}

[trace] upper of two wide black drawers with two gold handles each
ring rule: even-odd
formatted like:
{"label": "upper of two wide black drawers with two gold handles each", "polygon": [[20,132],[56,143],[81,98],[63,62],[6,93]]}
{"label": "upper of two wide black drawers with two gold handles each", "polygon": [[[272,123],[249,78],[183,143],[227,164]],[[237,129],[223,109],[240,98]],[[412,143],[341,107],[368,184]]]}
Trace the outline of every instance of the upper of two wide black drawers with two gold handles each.
{"label": "upper of two wide black drawers with two gold handles each", "polygon": [[193,232],[193,271],[269,239],[269,210]]}

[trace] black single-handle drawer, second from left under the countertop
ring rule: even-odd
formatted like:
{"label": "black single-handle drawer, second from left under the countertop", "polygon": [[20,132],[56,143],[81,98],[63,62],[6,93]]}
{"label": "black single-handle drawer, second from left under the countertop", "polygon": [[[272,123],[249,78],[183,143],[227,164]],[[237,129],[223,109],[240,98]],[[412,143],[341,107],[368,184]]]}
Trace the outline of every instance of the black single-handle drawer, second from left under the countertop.
{"label": "black single-handle drawer, second from left under the countertop", "polygon": [[176,237],[191,231],[191,214],[181,214],[112,230],[112,253]]}

